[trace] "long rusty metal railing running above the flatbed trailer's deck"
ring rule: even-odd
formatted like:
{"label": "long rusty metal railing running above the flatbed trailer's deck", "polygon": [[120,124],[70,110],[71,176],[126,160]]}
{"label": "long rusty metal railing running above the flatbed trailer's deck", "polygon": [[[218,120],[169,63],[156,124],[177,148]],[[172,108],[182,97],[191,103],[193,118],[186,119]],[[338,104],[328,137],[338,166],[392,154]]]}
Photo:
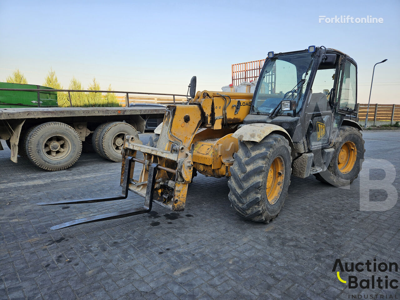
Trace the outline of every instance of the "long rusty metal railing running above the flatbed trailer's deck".
{"label": "long rusty metal railing running above the flatbed trailer's deck", "polygon": [[0,88],[0,91],[37,92],[38,93],[38,107],[40,107],[40,92],[65,92],[65,93],[68,93],[68,99],[70,100],[70,107],[72,107],[71,93],[73,93],[73,92],[125,94],[126,95],[126,107],[129,107],[129,94],[173,96],[174,104],[175,104],[175,96],[179,96],[179,97],[187,96],[187,95],[181,95],[181,94],[163,94],[163,93],[147,93],[147,92],[125,92],[125,91],[108,91],[108,90],[57,90],[57,89],[50,89],[50,88]]}

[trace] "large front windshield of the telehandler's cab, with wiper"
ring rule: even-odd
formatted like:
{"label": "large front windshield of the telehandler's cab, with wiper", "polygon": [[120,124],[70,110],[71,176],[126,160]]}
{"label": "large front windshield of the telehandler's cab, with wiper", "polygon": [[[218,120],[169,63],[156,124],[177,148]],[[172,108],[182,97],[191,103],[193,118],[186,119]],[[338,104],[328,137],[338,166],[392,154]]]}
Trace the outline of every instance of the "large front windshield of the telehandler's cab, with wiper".
{"label": "large front windshield of the telehandler's cab, with wiper", "polygon": [[[284,54],[267,59],[259,78],[252,113],[270,114],[283,99],[297,100],[300,110],[310,77],[312,53]],[[280,112],[279,114],[292,112]]]}

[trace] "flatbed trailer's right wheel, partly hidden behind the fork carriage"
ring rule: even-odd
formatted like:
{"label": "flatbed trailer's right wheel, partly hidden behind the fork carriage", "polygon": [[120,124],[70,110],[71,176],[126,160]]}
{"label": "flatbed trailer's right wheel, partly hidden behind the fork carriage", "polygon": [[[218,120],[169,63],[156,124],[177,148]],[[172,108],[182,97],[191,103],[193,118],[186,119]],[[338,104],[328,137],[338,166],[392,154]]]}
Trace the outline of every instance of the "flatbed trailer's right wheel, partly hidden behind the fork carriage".
{"label": "flatbed trailer's right wheel, partly hidden behind the fork carriage", "polygon": [[139,138],[136,129],[128,123],[113,122],[104,127],[100,132],[99,146],[105,158],[113,162],[122,162],[121,150],[126,134]]}

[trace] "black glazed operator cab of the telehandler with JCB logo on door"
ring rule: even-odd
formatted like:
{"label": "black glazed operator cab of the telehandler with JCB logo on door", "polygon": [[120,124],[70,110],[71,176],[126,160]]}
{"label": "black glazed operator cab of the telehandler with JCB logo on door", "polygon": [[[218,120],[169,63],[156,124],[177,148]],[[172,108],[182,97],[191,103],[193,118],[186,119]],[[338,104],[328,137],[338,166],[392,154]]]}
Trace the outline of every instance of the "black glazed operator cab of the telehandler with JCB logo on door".
{"label": "black glazed operator cab of the telehandler with JCB logo on door", "polygon": [[356,114],[356,99],[357,65],[346,54],[324,46],[268,52],[244,123],[282,126],[305,151],[328,148]]}

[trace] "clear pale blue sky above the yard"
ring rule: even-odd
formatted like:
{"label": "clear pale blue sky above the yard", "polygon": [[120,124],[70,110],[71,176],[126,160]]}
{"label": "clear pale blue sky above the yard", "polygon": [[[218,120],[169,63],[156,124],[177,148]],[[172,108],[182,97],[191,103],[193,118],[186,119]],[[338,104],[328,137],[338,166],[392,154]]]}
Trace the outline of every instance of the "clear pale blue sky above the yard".
{"label": "clear pale blue sky above the yard", "polygon": [[[320,16],[382,18],[326,23]],[[268,51],[338,49],[358,64],[358,102],[400,104],[400,1],[3,1],[0,81],[19,68],[43,84],[50,68],[68,88],[186,94],[231,83],[231,65]]]}

